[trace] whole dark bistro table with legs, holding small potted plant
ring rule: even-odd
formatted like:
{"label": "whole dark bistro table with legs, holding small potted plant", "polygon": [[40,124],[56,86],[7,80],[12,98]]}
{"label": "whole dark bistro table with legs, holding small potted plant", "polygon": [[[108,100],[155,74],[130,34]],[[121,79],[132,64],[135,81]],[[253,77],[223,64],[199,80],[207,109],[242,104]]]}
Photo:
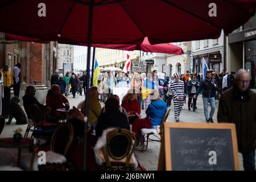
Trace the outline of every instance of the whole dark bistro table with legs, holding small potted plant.
{"label": "whole dark bistro table with legs, holding small potted plant", "polygon": [[46,143],[46,140],[39,139],[38,143],[34,143],[34,139],[31,138],[22,138],[20,142],[14,142],[13,138],[1,138],[0,139],[0,148],[18,148],[18,160],[17,166],[20,166],[20,155],[22,148],[32,148],[32,157],[30,161],[30,170],[33,169],[34,157],[39,146],[42,146]]}

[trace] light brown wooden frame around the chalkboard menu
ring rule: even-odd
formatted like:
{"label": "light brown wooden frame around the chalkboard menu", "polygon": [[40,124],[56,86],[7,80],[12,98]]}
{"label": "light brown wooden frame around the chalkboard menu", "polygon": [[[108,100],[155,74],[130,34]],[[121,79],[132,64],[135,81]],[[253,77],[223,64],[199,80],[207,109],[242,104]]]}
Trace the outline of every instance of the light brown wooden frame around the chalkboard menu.
{"label": "light brown wooden frame around the chalkboard menu", "polygon": [[[237,147],[237,134],[236,126],[232,123],[164,123],[164,146],[166,156],[166,170],[171,171],[171,141],[170,141],[170,128],[174,129],[224,129],[231,130],[232,135],[232,146],[234,156],[234,168],[236,171],[239,170],[238,160],[238,147]],[[168,152],[167,152],[168,151]]]}

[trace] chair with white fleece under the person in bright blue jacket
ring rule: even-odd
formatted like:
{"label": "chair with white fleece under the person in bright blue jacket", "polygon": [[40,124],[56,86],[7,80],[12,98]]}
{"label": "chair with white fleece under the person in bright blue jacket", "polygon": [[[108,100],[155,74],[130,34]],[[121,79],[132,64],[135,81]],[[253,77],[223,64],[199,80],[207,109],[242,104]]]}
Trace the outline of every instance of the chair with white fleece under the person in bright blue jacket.
{"label": "chair with white fleece under the person in bright blue jacket", "polygon": [[[148,142],[161,142],[162,134],[163,134],[163,124],[166,122],[166,119],[168,118],[168,115],[170,114],[171,109],[168,109],[166,114],[164,114],[163,120],[161,125],[159,126],[159,131],[156,129],[142,129],[142,135],[143,135],[143,142],[146,142],[146,150],[148,146]],[[154,138],[150,138],[150,136],[154,136]],[[142,147],[142,152],[144,151],[144,144]]]}

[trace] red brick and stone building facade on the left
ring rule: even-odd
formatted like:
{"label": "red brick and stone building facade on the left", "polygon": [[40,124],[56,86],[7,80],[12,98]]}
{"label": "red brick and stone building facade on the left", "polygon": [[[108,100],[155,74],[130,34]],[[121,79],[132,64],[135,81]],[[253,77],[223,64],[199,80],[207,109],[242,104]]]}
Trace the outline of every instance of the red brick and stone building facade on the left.
{"label": "red brick and stone building facade on the left", "polygon": [[[12,69],[16,63],[22,65],[20,98],[27,85],[35,85],[36,97],[44,104],[50,86],[51,76],[56,69],[57,43],[49,44],[6,41],[0,33],[0,69],[8,65]],[[13,97],[13,90],[11,90]],[[22,104],[22,99],[20,100]]]}

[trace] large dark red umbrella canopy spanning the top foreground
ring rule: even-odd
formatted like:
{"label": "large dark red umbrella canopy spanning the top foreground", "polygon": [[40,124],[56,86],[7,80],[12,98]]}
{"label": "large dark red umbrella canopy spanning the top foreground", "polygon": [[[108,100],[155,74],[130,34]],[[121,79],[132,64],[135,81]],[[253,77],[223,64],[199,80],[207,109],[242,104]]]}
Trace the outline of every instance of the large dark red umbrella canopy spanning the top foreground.
{"label": "large dark red umbrella canopy spanning the top foreground", "polygon": [[61,43],[151,44],[218,38],[254,15],[255,0],[2,0],[0,31]]}

